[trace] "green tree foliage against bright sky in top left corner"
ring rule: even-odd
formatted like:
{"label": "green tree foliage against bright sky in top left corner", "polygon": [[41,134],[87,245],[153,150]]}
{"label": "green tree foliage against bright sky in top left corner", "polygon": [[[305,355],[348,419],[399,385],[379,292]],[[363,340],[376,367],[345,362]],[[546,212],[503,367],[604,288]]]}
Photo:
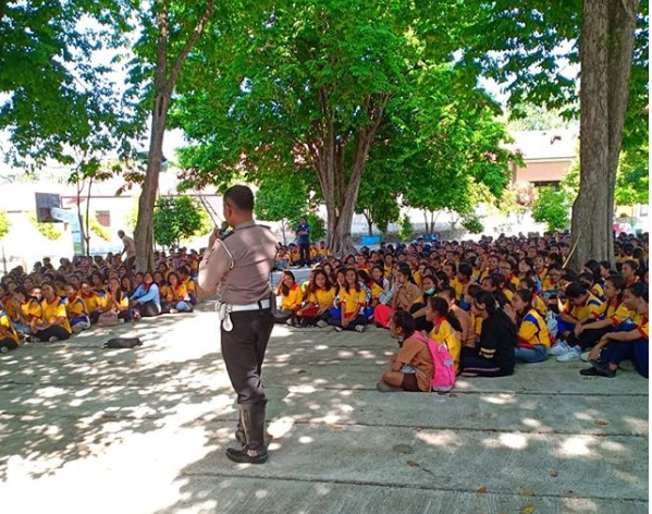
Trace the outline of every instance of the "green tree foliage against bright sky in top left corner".
{"label": "green tree foliage against bright sky in top left corner", "polygon": [[[5,158],[42,167],[73,164],[98,152],[130,151],[138,126],[121,109],[121,88],[99,52],[113,51],[131,29],[130,2],[2,2],[0,128]],[[38,75],[38,79],[35,79]],[[137,131],[136,131],[137,132]]]}

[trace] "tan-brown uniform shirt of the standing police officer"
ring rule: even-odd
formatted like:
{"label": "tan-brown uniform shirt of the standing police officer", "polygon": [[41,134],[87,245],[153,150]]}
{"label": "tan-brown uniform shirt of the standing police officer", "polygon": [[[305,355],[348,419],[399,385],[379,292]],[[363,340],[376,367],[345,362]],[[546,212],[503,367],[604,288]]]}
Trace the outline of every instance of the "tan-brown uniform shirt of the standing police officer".
{"label": "tan-brown uniform shirt of the standing police officer", "polygon": [[199,286],[218,293],[227,304],[249,305],[270,297],[269,277],[278,242],[272,232],[254,220],[235,227],[233,233],[217,240],[199,264]]}

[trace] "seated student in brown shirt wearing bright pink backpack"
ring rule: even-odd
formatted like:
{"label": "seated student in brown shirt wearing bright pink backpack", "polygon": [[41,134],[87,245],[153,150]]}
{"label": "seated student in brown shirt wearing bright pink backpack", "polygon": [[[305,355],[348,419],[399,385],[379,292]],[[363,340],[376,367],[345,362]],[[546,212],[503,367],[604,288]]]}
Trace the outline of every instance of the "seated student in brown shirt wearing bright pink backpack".
{"label": "seated student in brown shirt wearing bright pink backpack", "polygon": [[390,358],[387,369],[377,383],[380,392],[446,392],[455,386],[455,364],[448,350],[421,332],[405,310],[390,318],[390,331],[399,340],[401,350]]}

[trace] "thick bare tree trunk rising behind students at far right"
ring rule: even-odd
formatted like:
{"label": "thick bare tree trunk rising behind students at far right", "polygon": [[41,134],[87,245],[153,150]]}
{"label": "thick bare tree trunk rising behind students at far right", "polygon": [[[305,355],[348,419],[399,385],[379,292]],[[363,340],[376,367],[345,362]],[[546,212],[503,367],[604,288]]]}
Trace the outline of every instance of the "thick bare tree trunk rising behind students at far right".
{"label": "thick bare tree trunk rising behind students at far right", "polygon": [[629,98],[638,0],[585,0],[580,41],[580,189],[571,266],[612,260],[614,189]]}

